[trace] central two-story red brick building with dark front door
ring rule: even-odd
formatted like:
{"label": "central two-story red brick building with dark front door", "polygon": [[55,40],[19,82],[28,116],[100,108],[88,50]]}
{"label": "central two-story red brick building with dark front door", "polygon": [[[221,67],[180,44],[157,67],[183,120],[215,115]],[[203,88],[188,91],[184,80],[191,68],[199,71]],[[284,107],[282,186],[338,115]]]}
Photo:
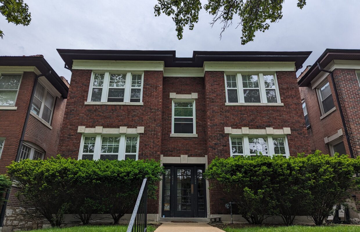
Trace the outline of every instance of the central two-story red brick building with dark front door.
{"label": "central two-story red brick building with dark front door", "polygon": [[216,156],[311,151],[296,78],[311,52],[58,52],[72,69],[58,153],[161,161],[154,220],[228,216],[202,178]]}

